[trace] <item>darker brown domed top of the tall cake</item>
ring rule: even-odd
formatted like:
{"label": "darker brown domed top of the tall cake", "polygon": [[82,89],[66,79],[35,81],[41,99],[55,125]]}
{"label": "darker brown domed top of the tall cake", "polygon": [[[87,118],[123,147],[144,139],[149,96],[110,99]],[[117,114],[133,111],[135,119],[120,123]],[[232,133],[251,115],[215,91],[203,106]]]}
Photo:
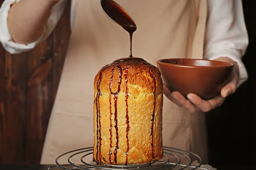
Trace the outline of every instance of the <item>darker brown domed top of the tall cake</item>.
{"label": "darker brown domed top of the tall cake", "polygon": [[105,65],[94,79],[94,90],[101,93],[119,93],[126,91],[138,93],[162,93],[163,81],[160,71],[144,59],[128,57]]}

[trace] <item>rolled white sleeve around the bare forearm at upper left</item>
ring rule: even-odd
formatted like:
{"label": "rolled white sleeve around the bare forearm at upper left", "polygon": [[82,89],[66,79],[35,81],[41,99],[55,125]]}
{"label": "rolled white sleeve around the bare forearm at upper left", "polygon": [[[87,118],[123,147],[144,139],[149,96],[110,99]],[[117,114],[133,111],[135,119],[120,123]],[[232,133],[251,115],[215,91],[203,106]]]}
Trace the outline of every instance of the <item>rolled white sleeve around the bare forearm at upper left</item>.
{"label": "rolled white sleeve around the bare forearm at upper left", "polygon": [[8,14],[12,4],[17,3],[20,0],[5,0],[0,8],[0,42],[2,43],[3,47],[6,51],[11,54],[19,54],[22,52],[29,51],[30,49],[34,48],[38,43],[45,40],[55,28],[60,19],[67,0],[60,0],[53,8],[51,15],[47,21],[47,24],[44,28],[44,32],[38,40],[32,42],[28,45],[19,44],[12,40],[12,36],[9,32],[8,28]]}

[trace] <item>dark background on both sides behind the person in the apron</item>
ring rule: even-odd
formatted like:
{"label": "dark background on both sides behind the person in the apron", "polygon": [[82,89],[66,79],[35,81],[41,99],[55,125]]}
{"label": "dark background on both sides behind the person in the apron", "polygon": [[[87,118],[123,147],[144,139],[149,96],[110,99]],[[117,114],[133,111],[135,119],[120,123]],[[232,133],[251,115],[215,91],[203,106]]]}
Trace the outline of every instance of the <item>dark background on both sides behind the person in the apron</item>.
{"label": "dark background on both sides behind the person in the apron", "polygon": [[[221,107],[206,113],[210,164],[216,167],[256,162],[255,1],[243,0],[243,6],[249,79]],[[33,50],[11,55],[0,45],[0,164],[40,162],[69,37],[70,2],[49,38]]]}

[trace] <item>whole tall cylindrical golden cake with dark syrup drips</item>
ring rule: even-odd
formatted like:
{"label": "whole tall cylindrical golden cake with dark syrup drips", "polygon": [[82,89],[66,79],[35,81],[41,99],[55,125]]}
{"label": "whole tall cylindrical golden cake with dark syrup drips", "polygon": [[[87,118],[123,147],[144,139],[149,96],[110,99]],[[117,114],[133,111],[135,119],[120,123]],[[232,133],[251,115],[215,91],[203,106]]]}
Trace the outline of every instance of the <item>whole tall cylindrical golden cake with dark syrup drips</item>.
{"label": "whole tall cylindrical golden cake with dark syrup drips", "polygon": [[145,163],[163,157],[163,82],[140,60],[103,67],[94,81],[93,158],[107,164]]}

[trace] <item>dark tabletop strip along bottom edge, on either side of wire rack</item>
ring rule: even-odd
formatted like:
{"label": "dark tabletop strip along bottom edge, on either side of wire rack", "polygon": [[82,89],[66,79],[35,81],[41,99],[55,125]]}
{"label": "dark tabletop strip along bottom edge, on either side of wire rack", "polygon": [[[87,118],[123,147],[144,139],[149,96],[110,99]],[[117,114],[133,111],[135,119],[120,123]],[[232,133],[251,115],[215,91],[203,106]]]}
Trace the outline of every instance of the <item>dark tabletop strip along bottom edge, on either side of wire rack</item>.
{"label": "dark tabletop strip along bottom edge, on either side of wire rack", "polygon": [[[50,165],[1,165],[0,170],[48,170]],[[52,168],[51,170],[61,170],[60,168]],[[217,170],[256,170],[256,167],[217,167]]]}

